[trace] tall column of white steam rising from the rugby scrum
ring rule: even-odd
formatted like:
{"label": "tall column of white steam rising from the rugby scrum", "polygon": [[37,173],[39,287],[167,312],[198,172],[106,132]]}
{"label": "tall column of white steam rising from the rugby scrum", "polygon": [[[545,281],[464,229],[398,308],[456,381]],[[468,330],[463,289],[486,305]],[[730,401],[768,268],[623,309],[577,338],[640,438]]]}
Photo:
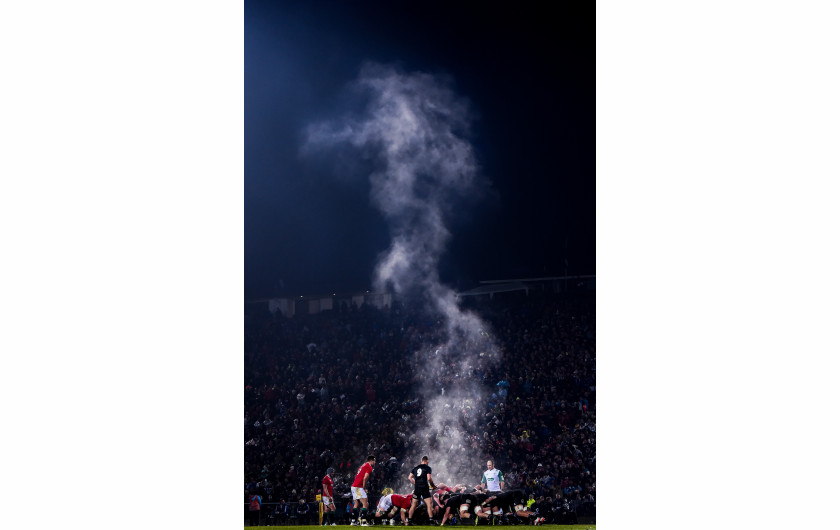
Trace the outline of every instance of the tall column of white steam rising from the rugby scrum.
{"label": "tall column of white steam rising from the rugby scrum", "polygon": [[[383,213],[391,245],[379,260],[374,283],[396,296],[420,296],[441,322],[440,342],[416,352],[424,372],[427,428],[416,433],[416,454],[432,459],[437,481],[477,483],[484,455],[469,451],[468,434],[482,434],[484,393],[474,369],[499,355],[487,325],[463,311],[455,292],[440,282],[438,264],[449,239],[446,219],[452,199],[476,189],[478,166],[470,142],[469,109],[447,83],[425,73],[404,74],[367,65],[355,84],[369,95],[360,118],[309,128],[306,150],[336,144],[372,155],[371,199]],[[444,365],[443,362],[457,359]],[[433,440],[429,442],[429,440]],[[433,445],[432,445],[433,444]],[[468,476],[456,476],[459,464]],[[407,473],[407,471],[406,471]],[[398,488],[405,489],[405,484]]]}

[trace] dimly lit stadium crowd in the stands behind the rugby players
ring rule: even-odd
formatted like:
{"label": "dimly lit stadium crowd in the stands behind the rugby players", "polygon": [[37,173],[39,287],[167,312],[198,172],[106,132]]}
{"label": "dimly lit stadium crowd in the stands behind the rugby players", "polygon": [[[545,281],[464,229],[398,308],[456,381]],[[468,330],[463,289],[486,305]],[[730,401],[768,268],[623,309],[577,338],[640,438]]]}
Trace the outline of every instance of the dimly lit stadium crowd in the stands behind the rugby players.
{"label": "dimly lit stadium crowd in the stands behind the rugby players", "polygon": [[[594,296],[531,292],[467,305],[493,330],[501,359],[469,374],[489,398],[463,411],[473,432],[462,445],[495,460],[504,489],[532,494],[532,509],[548,522],[594,515]],[[435,443],[412,434],[428,421],[417,391],[425,372],[412,352],[438,328],[435,318],[400,304],[293,318],[246,311],[245,501],[261,496],[264,515],[271,512],[263,522],[317,523],[317,508],[314,519],[299,510],[315,502],[325,470],[336,469],[335,496],[346,501],[367,454],[377,458],[374,506],[376,490],[404,492],[416,464],[408,455]],[[474,485],[482,469],[446,472]],[[338,510],[347,513],[343,504]]]}

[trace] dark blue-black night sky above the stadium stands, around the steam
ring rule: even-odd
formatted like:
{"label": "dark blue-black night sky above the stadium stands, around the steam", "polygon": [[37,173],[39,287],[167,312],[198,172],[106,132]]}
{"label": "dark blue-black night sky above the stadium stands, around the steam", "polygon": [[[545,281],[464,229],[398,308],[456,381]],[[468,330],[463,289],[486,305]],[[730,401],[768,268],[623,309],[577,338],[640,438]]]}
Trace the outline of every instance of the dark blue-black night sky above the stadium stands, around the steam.
{"label": "dark blue-black night sky above the stadium stands, around the steam", "polygon": [[459,199],[445,283],[594,274],[595,10],[567,4],[246,1],[246,299],[370,287],[389,233],[367,174],[300,154],[365,61],[470,102],[490,190]]}

